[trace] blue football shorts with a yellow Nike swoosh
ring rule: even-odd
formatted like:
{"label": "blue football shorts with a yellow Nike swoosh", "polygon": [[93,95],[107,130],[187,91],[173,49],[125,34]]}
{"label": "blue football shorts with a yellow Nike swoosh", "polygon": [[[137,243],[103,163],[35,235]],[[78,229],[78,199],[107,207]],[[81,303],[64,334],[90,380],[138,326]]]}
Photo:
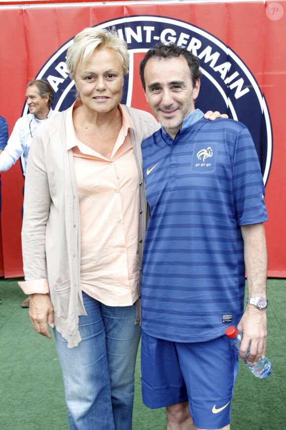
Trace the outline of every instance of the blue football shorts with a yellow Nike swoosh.
{"label": "blue football shorts with a yellow Nike swoosh", "polygon": [[184,344],[142,332],[141,370],[148,408],[188,401],[196,427],[220,429],[230,423],[238,357],[226,336]]}

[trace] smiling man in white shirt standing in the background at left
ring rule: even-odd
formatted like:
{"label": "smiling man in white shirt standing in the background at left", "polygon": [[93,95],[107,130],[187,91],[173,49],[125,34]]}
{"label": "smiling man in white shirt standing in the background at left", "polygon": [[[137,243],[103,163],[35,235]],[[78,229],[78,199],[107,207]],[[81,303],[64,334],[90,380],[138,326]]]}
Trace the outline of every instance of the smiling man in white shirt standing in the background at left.
{"label": "smiling man in white shirt standing in the background at left", "polygon": [[[55,114],[51,108],[54,92],[46,81],[36,79],[29,82],[25,97],[30,113],[16,122],[7,146],[0,154],[0,172],[9,170],[21,157],[25,176],[29,149],[36,129],[43,121]],[[22,307],[29,307],[29,303],[30,297],[23,301]]]}

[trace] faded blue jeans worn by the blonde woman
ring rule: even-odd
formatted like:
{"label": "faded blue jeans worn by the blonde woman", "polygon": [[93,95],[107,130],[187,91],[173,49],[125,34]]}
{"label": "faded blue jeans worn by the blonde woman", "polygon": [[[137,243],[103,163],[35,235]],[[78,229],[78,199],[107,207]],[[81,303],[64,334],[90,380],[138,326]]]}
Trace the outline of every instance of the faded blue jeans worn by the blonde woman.
{"label": "faded blue jeans worn by the blonde woman", "polygon": [[72,430],[131,430],[141,327],[136,304],[107,306],[83,293],[82,341],[68,348],[54,329]]}

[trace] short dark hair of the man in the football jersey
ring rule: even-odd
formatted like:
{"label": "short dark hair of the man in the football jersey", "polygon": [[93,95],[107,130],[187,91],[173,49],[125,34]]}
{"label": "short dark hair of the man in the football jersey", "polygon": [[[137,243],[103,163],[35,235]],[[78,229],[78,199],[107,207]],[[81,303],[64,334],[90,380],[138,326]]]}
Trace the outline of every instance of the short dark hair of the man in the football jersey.
{"label": "short dark hair of the man in the football jersey", "polygon": [[202,72],[200,70],[200,61],[199,59],[192,54],[190,51],[188,51],[184,46],[178,46],[176,43],[156,43],[155,46],[153,46],[151,49],[149,49],[143,60],[140,63],[140,78],[143,85],[143,88],[145,90],[145,81],[144,81],[144,69],[147,61],[150,58],[175,58],[175,57],[183,57],[186,59],[188,66],[190,68],[191,72],[191,78],[193,81],[193,85],[196,85],[197,79],[199,79],[202,76]]}

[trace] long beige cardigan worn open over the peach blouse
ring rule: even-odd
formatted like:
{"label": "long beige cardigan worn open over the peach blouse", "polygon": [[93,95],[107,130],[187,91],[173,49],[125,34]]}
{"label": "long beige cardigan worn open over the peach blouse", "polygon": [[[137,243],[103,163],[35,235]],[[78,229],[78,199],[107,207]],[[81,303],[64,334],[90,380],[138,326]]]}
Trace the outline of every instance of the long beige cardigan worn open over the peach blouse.
{"label": "long beige cardigan worn open over the peach blouse", "polygon": [[[141,143],[159,129],[152,115],[127,108],[138,169],[139,273],[147,205],[143,187]],[[25,179],[22,250],[26,294],[49,293],[56,329],[73,347],[81,341],[78,316],[86,315],[80,289],[80,217],[72,150],[67,150],[66,111],[47,119],[33,138]],[[141,276],[140,276],[141,278]],[[140,297],[140,285],[139,297]],[[137,318],[140,322],[140,301]]]}

